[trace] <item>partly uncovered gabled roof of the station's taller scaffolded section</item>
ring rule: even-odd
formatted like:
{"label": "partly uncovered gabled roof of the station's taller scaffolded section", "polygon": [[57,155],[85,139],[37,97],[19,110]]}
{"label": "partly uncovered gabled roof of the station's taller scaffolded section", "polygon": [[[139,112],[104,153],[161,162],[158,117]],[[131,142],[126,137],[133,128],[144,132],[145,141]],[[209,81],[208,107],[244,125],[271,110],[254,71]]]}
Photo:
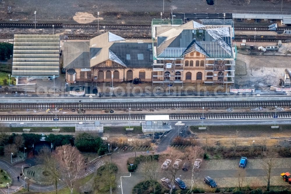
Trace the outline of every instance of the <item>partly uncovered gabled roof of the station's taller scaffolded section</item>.
{"label": "partly uncovered gabled roof of the station's taller scaffolded section", "polygon": [[157,56],[182,57],[194,50],[208,57],[231,58],[231,26],[191,21],[178,27],[156,27]]}

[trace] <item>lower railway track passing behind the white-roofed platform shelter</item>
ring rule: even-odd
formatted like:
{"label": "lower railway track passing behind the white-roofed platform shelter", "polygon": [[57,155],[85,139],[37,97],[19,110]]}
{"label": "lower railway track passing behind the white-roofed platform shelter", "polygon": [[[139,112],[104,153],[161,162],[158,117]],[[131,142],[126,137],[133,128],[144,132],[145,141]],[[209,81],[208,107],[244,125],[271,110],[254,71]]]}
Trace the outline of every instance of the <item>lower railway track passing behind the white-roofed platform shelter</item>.
{"label": "lower railway track passing behind the white-roofed platform shelter", "polygon": [[[278,119],[290,119],[290,112],[277,112]],[[45,115],[0,115],[1,121],[128,121],[129,114],[45,114]],[[169,114],[170,120],[200,120],[201,113]],[[205,119],[274,119],[274,112],[249,112],[249,113],[205,113]],[[145,114],[131,114],[130,120],[145,120]]]}

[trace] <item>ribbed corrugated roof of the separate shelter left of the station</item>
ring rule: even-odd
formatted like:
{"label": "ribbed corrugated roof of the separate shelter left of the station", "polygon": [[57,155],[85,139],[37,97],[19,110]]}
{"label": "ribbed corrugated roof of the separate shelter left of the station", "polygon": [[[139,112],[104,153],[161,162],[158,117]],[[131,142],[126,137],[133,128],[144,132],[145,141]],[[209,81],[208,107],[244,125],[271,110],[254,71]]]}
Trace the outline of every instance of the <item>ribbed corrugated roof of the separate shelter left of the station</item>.
{"label": "ribbed corrugated roof of the separate shelter left of the station", "polygon": [[59,35],[14,35],[12,76],[58,76]]}

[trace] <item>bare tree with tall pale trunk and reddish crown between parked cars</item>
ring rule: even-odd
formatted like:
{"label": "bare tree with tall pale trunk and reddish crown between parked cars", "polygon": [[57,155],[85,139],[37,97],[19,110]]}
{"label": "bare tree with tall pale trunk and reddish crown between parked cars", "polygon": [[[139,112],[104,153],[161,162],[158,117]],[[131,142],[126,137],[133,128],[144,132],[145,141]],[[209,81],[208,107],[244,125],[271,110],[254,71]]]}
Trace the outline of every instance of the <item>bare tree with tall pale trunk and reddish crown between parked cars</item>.
{"label": "bare tree with tall pale trunk and reddish crown between parked cars", "polygon": [[194,186],[194,163],[196,161],[197,158],[201,157],[203,155],[203,149],[200,146],[194,146],[194,147],[189,147],[186,150],[186,153],[188,153],[188,155],[186,156],[188,158],[188,161],[191,163],[192,166],[192,174],[191,174],[191,188],[190,188],[190,192],[192,192],[193,186]]}

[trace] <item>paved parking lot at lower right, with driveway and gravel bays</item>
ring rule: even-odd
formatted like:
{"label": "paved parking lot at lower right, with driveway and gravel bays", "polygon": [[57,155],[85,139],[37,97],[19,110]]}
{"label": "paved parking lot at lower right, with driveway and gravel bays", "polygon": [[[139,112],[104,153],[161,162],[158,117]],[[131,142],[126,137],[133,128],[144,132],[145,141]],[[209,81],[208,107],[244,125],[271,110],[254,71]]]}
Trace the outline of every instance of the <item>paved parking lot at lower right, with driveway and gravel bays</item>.
{"label": "paved parking lot at lower right, with driveway and gravel bays", "polygon": [[[272,170],[271,186],[288,186],[288,183],[283,181],[280,174],[282,172],[289,172],[291,165],[291,158],[276,158],[276,165]],[[239,158],[237,159],[212,159],[203,161],[200,169],[195,171],[195,182],[194,186],[198,188],[205,188],[206,191],[210,191],[210,187],[203,182],[203,178],[206,176],[212,177],[216,182],[218,187],[238,187],[237,178],[237,167],[239,163]],[[243,186],[249,185],[250,187],[255,186],[266,186],[267,182],[264,179],[266,174],[263,167],[263,161],[261,158],[249,158],[246,168],[245,178],[243,181]],[[159,182],[160,179],[165,177],[164,171],[159,169]],[[179,170],[176,173],[176,177],[182,175],[182,180],[187,186],[191,185],[191,169],[188,171]],[[121,176],[129,176],[129,173],[122,173]],[[123,193],[131,193],[132,188],[138,182],[143,181],[144,178],[140,169],[136,172],[131,173],[130,177],[122,178]],[[118,180],[120,184],[120,179]],[[121,193],[121,188],[117,188],[118,193]]]}

